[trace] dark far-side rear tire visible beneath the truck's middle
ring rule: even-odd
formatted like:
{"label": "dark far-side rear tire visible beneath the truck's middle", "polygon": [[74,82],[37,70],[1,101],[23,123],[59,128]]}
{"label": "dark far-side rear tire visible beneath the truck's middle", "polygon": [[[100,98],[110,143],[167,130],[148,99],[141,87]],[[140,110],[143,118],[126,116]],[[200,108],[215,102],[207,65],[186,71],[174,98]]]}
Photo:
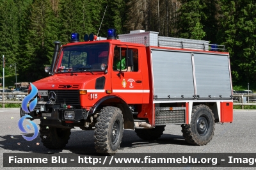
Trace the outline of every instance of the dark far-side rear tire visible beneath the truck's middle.
{"label": "dark far-side rear tire visible beneath the truck's middle", "polygon": [[155,128],[136,128],[135,132],[138,135],[138,137],[140,137],[140,139],[144,139],[144,140],[156,140],[159,137],[161,137],[161,135],[163,135],[164,132],[164,126],[157,126]]}

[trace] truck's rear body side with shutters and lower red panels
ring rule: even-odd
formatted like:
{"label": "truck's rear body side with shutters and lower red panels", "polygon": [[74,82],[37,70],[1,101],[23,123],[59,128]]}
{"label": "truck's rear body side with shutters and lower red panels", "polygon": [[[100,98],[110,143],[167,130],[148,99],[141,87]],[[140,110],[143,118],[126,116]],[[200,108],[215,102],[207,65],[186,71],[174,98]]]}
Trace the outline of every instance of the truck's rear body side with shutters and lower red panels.
{"label": "truck's rear body side with shutters and lower red panels", "polygon": [[[150,99],[154,103],[152,125],[167,125],[173,122],[190,124],[192,107],[197,104],[209,105],[211,108],[215,108],[212,105],[221,104],[221,107],[218,107],[220,109],[214,110],[214,118],[219,122],[232,122],[232,107],[226,106],[232,105],[232,81],[227,52],[161,47],[147,49]],[[177,118],[172,115],[182,117],[180,111],[184,106],[184,121],[175,121]],[[168,107],[170,110],[179,110],[180,107],[180,111],[164,111]],[[161,112],[168,117],[168,120],[161,120],[163,123],[157,121],[163,117]],[[148,120],[151,123],[151,118]]]}

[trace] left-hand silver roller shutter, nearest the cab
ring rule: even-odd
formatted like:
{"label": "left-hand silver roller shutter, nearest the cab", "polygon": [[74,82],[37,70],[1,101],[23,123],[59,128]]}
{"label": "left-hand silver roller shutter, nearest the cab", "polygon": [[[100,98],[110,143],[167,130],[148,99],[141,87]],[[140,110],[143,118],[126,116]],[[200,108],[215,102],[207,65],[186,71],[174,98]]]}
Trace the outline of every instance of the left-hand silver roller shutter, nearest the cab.
{"label": "left-hand silver roller shutter, nearest the cab", "polygon": [[154,95],[157,98],[193,98],[193,72],[189,52],[152,50]]}

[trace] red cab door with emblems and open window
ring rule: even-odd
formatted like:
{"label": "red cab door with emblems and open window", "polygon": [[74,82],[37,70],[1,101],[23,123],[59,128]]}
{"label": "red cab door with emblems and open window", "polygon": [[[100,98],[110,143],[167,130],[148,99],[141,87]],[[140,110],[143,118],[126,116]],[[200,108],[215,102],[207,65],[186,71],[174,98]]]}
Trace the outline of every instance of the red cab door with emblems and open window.
{"label": "red cab door with emblems and open window", "polygon": [[[112,68],[112,93],[113,95],[124,99],[127,104],[141,104],[143,101],[143,75],[139,65],[139,50],[134,47],[120,47],[118,50],[121,53],[122,58],[125,57],[126,68],[123,69],[122,72],[116,70],[115,66]],[[127,60],[127,58],[129,59]],[[115,57],[113,58],[113,63],[116,63]]]}

